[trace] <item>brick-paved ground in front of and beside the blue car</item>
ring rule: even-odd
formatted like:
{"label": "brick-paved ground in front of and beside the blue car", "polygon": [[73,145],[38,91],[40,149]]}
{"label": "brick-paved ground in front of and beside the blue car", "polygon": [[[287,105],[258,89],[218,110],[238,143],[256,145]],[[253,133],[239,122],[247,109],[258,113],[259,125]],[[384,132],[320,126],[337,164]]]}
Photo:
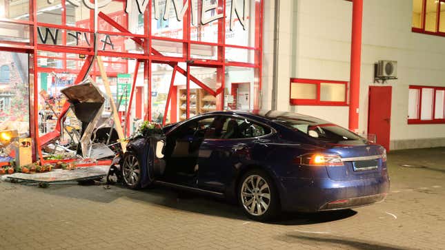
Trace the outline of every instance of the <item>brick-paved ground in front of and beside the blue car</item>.
{"label": "brick-paved ground in front of and beside the blue car", "polygon": [[384,202],[270,223],[161,187],[0,182],[0,249],[445,249],[444,156],[444,148],[392,152]]}

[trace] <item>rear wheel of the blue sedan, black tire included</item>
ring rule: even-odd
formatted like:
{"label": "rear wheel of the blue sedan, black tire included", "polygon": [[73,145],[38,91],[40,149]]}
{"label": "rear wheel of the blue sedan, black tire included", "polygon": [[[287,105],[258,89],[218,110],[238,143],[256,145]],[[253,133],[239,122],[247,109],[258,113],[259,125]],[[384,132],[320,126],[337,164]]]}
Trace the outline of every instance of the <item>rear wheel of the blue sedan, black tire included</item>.
{"label": "rear wheel of the blue sedan, black tire included", "polygon": [[278,192],[266,171],[253,169],[246,172],[241,177],[237,194],[239,205],[248,218],[264,222],[277,216]]}

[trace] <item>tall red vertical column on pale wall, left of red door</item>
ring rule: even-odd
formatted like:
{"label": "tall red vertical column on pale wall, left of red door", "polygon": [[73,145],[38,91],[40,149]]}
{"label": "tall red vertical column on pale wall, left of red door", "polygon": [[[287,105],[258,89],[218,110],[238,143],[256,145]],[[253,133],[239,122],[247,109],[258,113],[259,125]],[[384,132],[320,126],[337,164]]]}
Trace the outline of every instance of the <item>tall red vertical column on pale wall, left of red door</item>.
{"label": "tall red vertical column on pale wall, left of red door", "polygon": [[362,58],[363,0],[353,1],[353,32],[350,45],[349,130],[359,128],[360,66]]}

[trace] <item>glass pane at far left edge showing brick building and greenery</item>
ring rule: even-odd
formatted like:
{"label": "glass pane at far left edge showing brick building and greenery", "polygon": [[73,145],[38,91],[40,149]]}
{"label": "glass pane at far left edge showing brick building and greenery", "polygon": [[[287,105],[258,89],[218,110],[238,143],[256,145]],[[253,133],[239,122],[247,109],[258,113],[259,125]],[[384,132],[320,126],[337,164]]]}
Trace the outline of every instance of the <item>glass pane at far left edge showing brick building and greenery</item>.
{"label": "glass pane at far left edge showing brick building and greenery", "polygon": [[28,54],[0,51],[0,131],[29,134]]}

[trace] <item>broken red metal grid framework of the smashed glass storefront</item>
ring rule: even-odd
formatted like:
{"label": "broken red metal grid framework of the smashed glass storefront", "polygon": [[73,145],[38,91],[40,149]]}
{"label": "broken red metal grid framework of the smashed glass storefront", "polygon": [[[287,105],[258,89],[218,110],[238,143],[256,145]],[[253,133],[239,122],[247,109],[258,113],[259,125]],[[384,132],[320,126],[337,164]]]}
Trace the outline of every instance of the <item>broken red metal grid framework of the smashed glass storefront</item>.
{"label": "broken red metal grid framework of the smashed glass storefront", "polygon": [[[122,0],[118,0],[123,2]],[[38,128],[38,118],[37,114],[39,112],[38,110],[38,87],[37,87],[37,81],[38,81],[38,73],[39,72],[63,72],[63,73],[74,73],[77,74],[77,79],[75,81],[75,84],[82,81],[86,76],[90,75],[95,78],[96,75],[99,75],[99,72],[96,70],[95,65],[95,59],[94,56],[117,56],[121,58],[131,58],[131,59],[137,59],[137,65],[139,63],[144,63],[144,82],[148,84],[148,107],[146,110],[146,119],[148,121],[151,121],[151,114],[152,114],[152,108],[151,108],[151,78],[150,76],[150,65],[151,63],[166,63],[173,67],[173,78],[170,85],[170,91],[168,92],[168,101],[166,103],[166,110],[164,112],[164,117],[166,117],[166,113],[168,111],[168,105],[173,105],[176,102],[176,97],[173,96],[174,90],[177,88],[172,85],[174,81],[174,76],[179,72],[180,74],[184,74],[187,78],[187,118],[190,116],[190,81],[196,83],[199,85],[199,87],[206,90],[209,94],[212,94],[213,96],[217,96],[217,109],[221,110],[224,106],[224,81],[225,81],[225,70],[227,66],[235,66],[235,67],[250,67],[250,68],[256,68],[257,69],[257,77],[255,77],[254,90],[259,92],[261,91],[261,69],[262,69],[262,46],[263,46],[263,13],[264,13],[264,3],[263,1],[258,0],[251,0],[255,1],[255,46],[249,47],[249,46],[241,46],[241,45],[231,45],[225,43],[225,33],[226,33],[226,2],[230,0],[218,0],[218,8],[215,9],[217,14],[223,14],[223,18],[218,19],[218,39],[217,43],[209,43],[209,42],[203,42],[203,41],[192,41],[190,39],[190,30],[191,30],[191,14],[192,14],[192,1],[191,0],[184,0],[184,3],[188,1],[189,8],[187,9],[186,13],[184,14],[184,27],[183,27],[183,39],[172,39],[168,37],[155,37],[151,34],[151,27],[152,27],[152,0],[148,0],[148,8],[144,11],[144,34],[132,34],[128,31],[124,26],[120,25],[119,23],[114,22],[107,14],[103,12],[98,12],[98,19],[101,18],[103,21],[108,22],[110,25],[112,25],[115,29],[119,30],[119,32],[112,32],[112,31],[103,31],[103,30],[97,30],[97,34],[108,34],[108,35],[115,35],[115,36],[124,36],[129,37],[136,43],[139,43],[144,48],[143,54],[135,54],[135,53],[128,53],[128,52],[112,52],[112,51],[95,51],[94,46],[89,47],[81,47],[81,46],[68,46],[66,45],[66,38],[67,38],[67,31],[75,31],[75,32],[87,32],[91,34],[94,32],[95,29],[86,29],[86,28],[77,28],[66,25],[66,1],[61,1],[61,25],[56,24],[50,24],[50,23],[40,23],[37,21],[37,0],[30,0],[29,1],[29,19],[27,21],[23,20],[15,20],[15,19],[5,19],[0,18],[0,25],[1,23],[17,23],[17,24],[24,24],[30,26],[30,42],[29,43],[23,43],[23,42],[14,42],[14,41],[0,41],[0,51],[9,51],[9,52],[26,52],[30,54],[30,66],[29,66],[29,74],[30,74],[30,136],[33,138],[33,160],[35,160],[37,157],[34,154],[34,152],[37,152],[40,160],[44,163],[45,160],[43,160],[43,156],[41,153],[41,145],[43,143],[48,143],[53,138],[59,136],[60,129],[61,129],[61,120],[62,115],[59,116],[59,120],[57,123],[57,128],[54,132],[50,132],[44,136],[39,136],[39,128]],[[200,3],[200,1],[199,1]],[[125,7],[125,6],[124,6]],[[252,17],[250,17],[252,18]],[[125,25],[128,24],[125,23]],[[95,10],[90,10],[90,27],[95,27],[97,24],[95,23]],[[56,28],[63,30],[62,34],[62,45],[46,45],[39,43],[38,39],[38,30],[37,28]],[[161,53],[157,52],[157,50],[152,48],[152,40],[156,39],[159,41],[174,41],[178,43],[183,44],[183,55],[181,57],[171,57],[171,56],[164,56]],[[202,59],[192,59],[190,57],[190,45],[192,44],[198,44],[198,45],[213,45],[217,46],[218,48],[218,58],[217,60],[202,60]],[[237,49],[244,49],[244,50],[252,50],[255,53],[255,59],[254,63],[246,63],[246,62],[236,62],[236,61],[226,61],[225,58],[225,52],[226,48],[237,48]],[[63,62],[63,67],[59,69],[53,69],[48,67],[39,67],[38,65],[38,59],[44,58],[45,56],[39,56],[39,51],[46,51],[46,52],[57,52],[57,53],[63,53],[63,56],[61,58],[56,58],[52,56],[53,59],[61,59]],[[77,70],[69,70],[66,66],[66,53],[70,54],[83,54],[86,56],[86,59],[83,60],[83,66],[79,71]],[[48,58],[51,58],[51,56],[48,56]],[[71,60],[71,59],[70,59]],[[74,59],[79,61],[79,59]],[[178,66],[178,63],[186,63],[186,69],[183,69]],[[215,67],[217,68],[217,79],[219,79],[220,84],[217,87],[216,90],[210,89],[210,87],[207,87],[206,84],[199,81],[195,76],[192,76],[190,74],[190,67],[191,66],[199,66],[199,67]],[[92,70],[90,72],[90,70]],[[135,74],[135,77],[137,77],[137,74]],[[135,79],[133,79],[133,85],[135,83]],[[131,96],[133,96],[134,92],[134,86],[132,86],[132,92]],[[132,103],[132,98],[130,98],[129,106]],[[259,94],[255,94],[254,96],[254,109],[259,108]],[[61,114],[66,112],[68,110],[68,105],[63,107],[63,111]],[[130,109],[129,109],[130,110]],[[175,111],[172,109],[172,113],[175,113]],[[165,120],[164,120],[165,122]],[[172,121],[174,122],[174,121]],[[42,143],[43,140],[43,143]]]}

